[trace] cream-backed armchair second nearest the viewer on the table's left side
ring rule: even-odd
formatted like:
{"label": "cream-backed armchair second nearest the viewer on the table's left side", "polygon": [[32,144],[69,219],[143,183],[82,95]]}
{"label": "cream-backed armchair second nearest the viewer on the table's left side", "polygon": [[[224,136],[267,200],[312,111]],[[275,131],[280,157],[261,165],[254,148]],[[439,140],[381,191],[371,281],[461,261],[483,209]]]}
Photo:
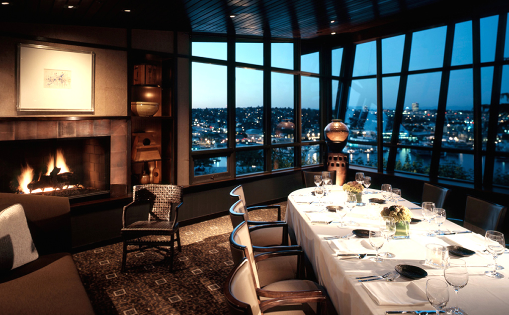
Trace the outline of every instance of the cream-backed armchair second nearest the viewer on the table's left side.
{"label": "cream-backed armchair second nearest the viewer on the table's left side", "polygon": [[[232,255],[233,251],[243,252],[242,259],[246,258],[249,263],[253,282],[260,297],[278,298],[292,294],[301,297],[320,295],[328,299],[321,285],[304,279],[302,250],[280,250],[254,255],[249,228],[245,221],[235,227],[230,235],[230,247]],[[330,303],[327,301],[327,304]]]}

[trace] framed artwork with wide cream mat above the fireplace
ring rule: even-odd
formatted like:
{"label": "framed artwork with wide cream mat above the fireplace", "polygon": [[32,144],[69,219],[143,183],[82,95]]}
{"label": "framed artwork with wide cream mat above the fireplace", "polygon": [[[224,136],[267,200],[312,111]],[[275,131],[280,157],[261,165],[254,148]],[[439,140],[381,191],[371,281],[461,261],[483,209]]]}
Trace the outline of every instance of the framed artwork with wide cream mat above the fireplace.
{"label": "framed artwork with wide cream mat above the fireplace", "polygon": [[18,44],[18,111],[94,111],[95,53]]}

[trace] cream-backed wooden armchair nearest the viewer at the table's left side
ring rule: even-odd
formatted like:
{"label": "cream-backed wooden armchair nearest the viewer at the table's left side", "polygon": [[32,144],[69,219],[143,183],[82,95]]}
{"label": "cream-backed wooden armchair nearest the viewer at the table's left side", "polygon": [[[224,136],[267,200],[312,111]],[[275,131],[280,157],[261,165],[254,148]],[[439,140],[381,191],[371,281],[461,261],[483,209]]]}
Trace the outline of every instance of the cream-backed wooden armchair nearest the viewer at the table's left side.
{"label": "cream-backed wooden armchair nearest the viewer at the table's left side", "polygon": [[320,291],[273,293],[274,297],[262,298],[261,290],[254,284],[254,275],[247,258],[234,266],[227,276],[223,293],[232,315],[261,315],[266,311],[270,314],[309,314],[315,304],[315,314],[325,314],[326,297]]}

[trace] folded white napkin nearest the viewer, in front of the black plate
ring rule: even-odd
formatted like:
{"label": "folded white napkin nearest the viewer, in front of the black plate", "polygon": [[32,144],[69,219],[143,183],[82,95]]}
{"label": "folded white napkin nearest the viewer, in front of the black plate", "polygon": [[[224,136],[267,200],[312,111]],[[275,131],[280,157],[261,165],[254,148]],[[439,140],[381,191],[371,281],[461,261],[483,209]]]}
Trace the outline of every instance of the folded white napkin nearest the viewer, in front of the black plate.
{"label": "folded white napkin nearest the viewer, in front of the black plate", "polygon": [[368,281],[362,286],[378,305],[427,304],[426,292],[414,282]]}

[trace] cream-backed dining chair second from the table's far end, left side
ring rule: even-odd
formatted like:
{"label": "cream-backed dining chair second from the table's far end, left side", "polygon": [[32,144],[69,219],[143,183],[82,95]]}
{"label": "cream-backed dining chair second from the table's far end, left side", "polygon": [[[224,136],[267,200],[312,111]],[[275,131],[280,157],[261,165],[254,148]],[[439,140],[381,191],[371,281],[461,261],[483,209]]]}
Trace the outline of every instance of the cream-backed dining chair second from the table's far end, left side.
{"label": "cream-backed dining chair second from the table's far end, left side", "polygon": [[[288,224],[284,221],[249,221],[242,199],[230,207],[230,220],[233,227],[246,221],[250,226],[252,243],[257,247],[288,246],[291,243]],[[257,228],[256,226],[263,226]],[[263,250],[257,250],[263,251]]]}

